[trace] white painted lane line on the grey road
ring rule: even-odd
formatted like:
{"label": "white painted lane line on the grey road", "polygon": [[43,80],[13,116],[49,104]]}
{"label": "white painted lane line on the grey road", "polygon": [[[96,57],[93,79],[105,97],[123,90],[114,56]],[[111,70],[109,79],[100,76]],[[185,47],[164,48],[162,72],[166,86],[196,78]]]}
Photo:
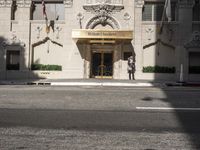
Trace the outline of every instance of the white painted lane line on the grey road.
{"label": "white painted lane line on the grey road", "polygon": [[187,110],[200,111],[200,108],[172,108],[172,107],[136,107],[138,110]]}

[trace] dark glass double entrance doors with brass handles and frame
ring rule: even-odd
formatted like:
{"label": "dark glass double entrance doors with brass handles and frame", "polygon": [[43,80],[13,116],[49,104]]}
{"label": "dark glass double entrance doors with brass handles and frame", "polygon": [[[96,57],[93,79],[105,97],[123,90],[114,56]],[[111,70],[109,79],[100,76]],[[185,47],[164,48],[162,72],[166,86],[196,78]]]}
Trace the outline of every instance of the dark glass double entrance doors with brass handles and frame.
{"label": "dark glass double entrance doors with brass handles and frame", "polygon": [[91,74],[94,78],[112,78],[113,53],[93,52]]}

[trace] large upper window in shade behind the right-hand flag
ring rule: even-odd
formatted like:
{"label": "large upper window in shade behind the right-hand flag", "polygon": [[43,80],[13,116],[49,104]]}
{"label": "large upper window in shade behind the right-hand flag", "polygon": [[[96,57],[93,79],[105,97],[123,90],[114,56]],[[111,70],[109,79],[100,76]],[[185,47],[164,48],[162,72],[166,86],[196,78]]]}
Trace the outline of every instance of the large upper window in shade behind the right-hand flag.
{"label": "large upper window in shade behind the right-hand flag", "polygon": [[[164,10],[164,3],[145,3],[142,11],[143,21],[161,21]],[[172,21],[175,21],[175,3],[171,4]]]}

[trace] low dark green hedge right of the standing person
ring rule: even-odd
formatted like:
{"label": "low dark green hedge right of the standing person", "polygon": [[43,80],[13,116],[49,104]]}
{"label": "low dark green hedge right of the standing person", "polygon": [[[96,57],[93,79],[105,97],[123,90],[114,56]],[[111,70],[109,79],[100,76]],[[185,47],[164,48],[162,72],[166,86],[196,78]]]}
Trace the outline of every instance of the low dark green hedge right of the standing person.
{"label": "low dark green hedge right of the standing person", "polygon": [[175,73],[175,67],[146,66],[142,71],[144,73]]}

